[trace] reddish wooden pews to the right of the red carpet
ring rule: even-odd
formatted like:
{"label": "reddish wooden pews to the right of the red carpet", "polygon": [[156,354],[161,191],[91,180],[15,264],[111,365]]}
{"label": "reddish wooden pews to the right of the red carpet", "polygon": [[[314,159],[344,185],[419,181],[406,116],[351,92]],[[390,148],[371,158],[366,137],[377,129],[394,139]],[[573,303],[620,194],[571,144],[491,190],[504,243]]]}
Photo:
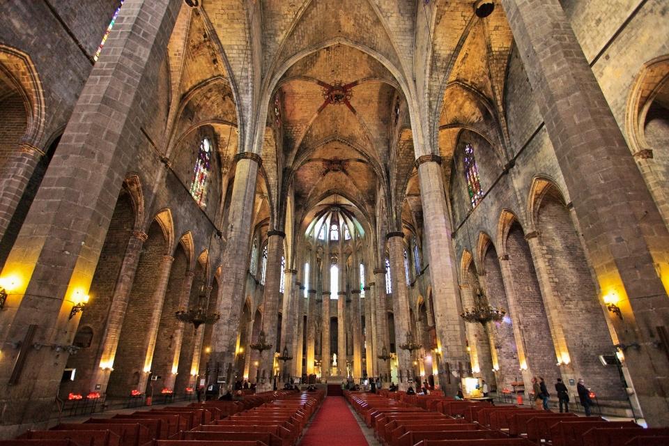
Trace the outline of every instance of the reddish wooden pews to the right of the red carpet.
{"label": "reddish wooden pews to the right of the red carpet", "polygon": [[403,392],[344,396],[385,446],[669,445],[669,429],[601,417]]}

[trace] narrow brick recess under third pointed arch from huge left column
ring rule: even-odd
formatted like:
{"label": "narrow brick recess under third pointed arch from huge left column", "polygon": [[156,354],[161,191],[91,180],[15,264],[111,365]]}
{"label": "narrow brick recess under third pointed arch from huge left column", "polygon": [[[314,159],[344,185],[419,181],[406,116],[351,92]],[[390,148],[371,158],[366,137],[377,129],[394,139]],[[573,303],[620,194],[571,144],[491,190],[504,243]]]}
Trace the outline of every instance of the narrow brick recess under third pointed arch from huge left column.
{"label": "narrow brick recess under third pointed arch from huge left column", "polygon": [[169,383],[167,378],[172,373],[176,330],[180,323],[176,316],[174,316],[174,313],[179,309],[180,291],[183,286],[188,266],[187,263],[186,254],[181,244],[179,244],[174,254],[171,272],[169,273],[169,282],[167,282],[165,300],[162,305],[162,314],[160,315],[160,325],[158,326],[155,341],[155,350],[153,351],[153,361],[151,362],[151,371],[153,371],[153,374],[162,377],[155,384],[160,389]]}

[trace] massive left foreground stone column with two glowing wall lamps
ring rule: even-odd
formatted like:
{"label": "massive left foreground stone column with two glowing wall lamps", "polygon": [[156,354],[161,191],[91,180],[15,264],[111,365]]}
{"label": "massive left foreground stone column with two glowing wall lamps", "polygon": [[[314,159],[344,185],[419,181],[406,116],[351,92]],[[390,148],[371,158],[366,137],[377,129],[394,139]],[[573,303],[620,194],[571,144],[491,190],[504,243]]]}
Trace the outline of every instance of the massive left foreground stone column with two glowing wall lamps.
{"label": "massive left foreground stone column with two glowing wall lamps", "polygon": [[[139,126],[153,94],[151,77],[164,59],[182,2],[129,0],[121,9],[105,51],[95,63],[2,277],[20,278],[0,320],[3,345],[26,339],[69,345],[79,317],[73,300],[86,295],[128,164],[142,138]],[[142,51],[137,51],[141,48]],[[123,94],[120,94],[123,92]],[[45,427],[67,362],[53,348],[0,355],[0,406],[11,407],[0,438]]]}

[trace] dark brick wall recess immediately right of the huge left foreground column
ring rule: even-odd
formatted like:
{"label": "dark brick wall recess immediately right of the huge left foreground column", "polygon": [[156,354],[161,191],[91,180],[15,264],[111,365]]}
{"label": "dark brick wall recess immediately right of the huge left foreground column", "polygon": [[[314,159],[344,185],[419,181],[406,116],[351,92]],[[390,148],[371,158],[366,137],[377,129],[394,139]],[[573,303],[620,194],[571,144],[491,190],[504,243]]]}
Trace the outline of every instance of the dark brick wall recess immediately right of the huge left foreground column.
{"label": "dark brick wall recess immediately right of the huge left foreground column", "polygon": [[128,238],[132,235],[133,224],[134,212],[130,195],[123,190],[114,208],[105,245],[102,245],[102,252],[100,252],[98,268],[95,269],[95,275],[93,275],[89,291],[91,301],[86,306],[86,310],[82,312],[82,318],[79,321],[79,330],[84,327],[93,329],[91,346],[68,358],[67,367],[77,369],[77,372],[74,382],[66,382],[61,385],[63,395],[70,392],[85,395],[89,392],[88,386],[91,378],[100,365],[98,364],[99,350],[104,341],[104,328],[107,325],[118,273],[121,272],[125,248],[128,246]]}

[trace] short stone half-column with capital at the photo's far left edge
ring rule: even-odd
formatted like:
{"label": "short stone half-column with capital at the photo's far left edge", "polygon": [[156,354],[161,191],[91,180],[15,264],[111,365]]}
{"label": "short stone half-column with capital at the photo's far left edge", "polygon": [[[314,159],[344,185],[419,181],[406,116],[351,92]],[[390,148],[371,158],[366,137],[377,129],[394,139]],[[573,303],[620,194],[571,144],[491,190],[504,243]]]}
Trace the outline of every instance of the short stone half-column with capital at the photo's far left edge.
{"label": "short stone half-column with capital at the photo's far left edge", "polygon": [[7,160],[0,171],[0,240],[5,236],[33,171],[43,156],[46,154],[42,149],[22,142],[17,153]]}

